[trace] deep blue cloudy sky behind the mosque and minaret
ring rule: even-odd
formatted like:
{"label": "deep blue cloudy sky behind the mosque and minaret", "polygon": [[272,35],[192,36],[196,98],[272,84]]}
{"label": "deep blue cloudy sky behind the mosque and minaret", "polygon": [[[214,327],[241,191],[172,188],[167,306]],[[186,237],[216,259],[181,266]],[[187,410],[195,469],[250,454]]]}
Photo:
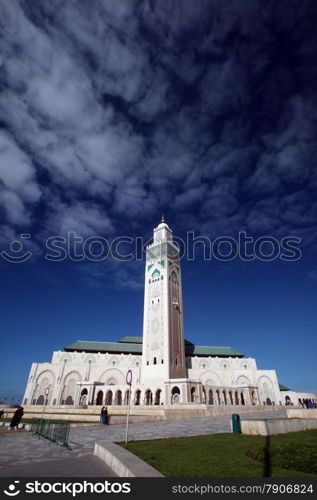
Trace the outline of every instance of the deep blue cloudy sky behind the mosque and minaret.
{"label": "deep blue cloudy sky behind the mosque and minaret", "polygon": [[0,245],[33,254],[0,260],[0,392],[77,338],[140,334],[143,264],[47,263],[45,239],[148,238],[162,212],[302,239],[296,263],[184,262],[185,331],[317,390],[316,23],[314,0],[0,0]]}

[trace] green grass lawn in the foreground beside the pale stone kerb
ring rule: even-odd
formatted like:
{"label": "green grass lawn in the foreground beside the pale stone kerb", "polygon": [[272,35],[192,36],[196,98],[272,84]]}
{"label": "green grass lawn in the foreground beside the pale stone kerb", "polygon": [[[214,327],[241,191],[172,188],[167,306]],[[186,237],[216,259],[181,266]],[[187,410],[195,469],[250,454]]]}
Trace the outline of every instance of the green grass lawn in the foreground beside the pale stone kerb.
{"label": "green grass lawn in the foreground beside the pale stone kerb", "polygon": [[211,434],[119,444],[170,477],[305,477],[317,474],[315,430],[269,438]]}

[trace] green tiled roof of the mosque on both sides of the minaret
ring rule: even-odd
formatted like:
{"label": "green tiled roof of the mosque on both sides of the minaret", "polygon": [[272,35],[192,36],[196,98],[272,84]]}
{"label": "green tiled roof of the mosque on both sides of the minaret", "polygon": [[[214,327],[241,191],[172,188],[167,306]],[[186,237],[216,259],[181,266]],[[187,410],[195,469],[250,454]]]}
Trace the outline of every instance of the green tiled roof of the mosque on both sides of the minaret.
{"label": "green tiled roof of the mosque on both sides of the minaret", "polygon": [[[123,337],[119,342],[94,342],[77,340],[65,347],[65,351],[110,352],[142,354],[142,337]],[[196,346],[185,339],[186,356],[234,356],[244,355],[232,347]]]}

